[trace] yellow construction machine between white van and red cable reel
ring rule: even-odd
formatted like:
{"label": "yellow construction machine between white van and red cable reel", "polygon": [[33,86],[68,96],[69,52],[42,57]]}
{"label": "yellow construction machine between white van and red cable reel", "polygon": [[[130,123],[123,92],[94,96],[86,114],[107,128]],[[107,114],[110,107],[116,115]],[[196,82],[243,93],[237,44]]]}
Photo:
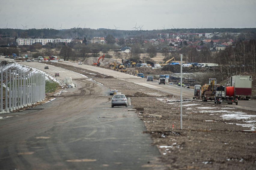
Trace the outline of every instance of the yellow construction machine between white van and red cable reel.
{"label": "yellow construction machine between white van and red cable reel", "polygon": [[214,100],[215,90],[218,85],[216,84],[216,79],[209,79],[209,83],[205,84],[201,88],[201,97],[203,102],[207,100]]}

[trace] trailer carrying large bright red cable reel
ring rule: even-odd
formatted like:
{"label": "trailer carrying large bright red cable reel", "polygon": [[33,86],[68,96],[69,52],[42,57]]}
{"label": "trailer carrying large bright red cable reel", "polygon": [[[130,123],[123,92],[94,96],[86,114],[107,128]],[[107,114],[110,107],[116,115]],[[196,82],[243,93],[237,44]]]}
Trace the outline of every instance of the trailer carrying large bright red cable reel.
{"label": "trailer carrying large bright red cable reel", "polygon": [[215,90],[214,103],[221,104],[233,104],[236,103],[238,105],[238,99],[236,98],[236,91],[234,86],[227,87],[225,86],[217,86]]}

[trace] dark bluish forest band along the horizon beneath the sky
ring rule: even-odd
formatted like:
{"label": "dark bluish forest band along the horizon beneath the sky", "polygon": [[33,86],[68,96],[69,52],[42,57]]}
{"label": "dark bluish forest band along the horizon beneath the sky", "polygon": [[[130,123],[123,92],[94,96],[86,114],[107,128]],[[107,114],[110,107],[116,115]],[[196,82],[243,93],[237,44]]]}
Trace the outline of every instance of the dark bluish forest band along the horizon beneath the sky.
{"label": "dark bluish forest band along the horizon beneath the sky", "polygon": [[157,39],[157,34],[171,33],[214,33],[214,32],[237,32],[237,33],[256,33],[256,28],[177,28],[164,30],[115,30],[115,29],[91,29],[91,28],[71,28],[71,29],[0,29],[0,37],[18,37],[18,38],[67,38],[67,39],[83,39],[88,40],[93,37],[106,37],[108,34],[115,38],[132,38],[141,37],[144,39]]}

